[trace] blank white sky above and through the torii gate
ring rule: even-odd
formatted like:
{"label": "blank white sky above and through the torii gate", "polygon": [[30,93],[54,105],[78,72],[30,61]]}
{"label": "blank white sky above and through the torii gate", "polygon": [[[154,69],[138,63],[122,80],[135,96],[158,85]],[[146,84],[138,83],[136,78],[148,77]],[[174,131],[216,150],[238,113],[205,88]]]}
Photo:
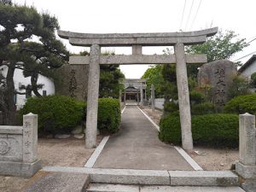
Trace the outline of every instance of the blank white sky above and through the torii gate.
{"label": "blank white sky above and through the torii gate", "polygon": [[[59,20],[61,30],[85,33],[197,31],[212,26],[232,30],[247,41],[256,38],[255,0],[13,0],[47,11]],[[183,8],[186,2],[186,6]],[[199,6],[200,5],[200,6]],[[191,9],[192,8],[192,9]],[[190,11],[191,9],[191,11]],[[198,9],[198,11],[197,11]],[[189,15],[190,12],[190,15]],[[197,14],[196,14],[197,13]],[[183,22],[182,22],[183,18]],[[193,22],[194,20],[194,22]],[[78,53],[89,50],[74,47]],[[164,47],[143,48],[144,54],[162,54]],[[103,49],[104,50],[104,49]],[[112,48],[116,54],[131,54],[131,48]],[[256,40],[231,61],[256,51]],[[247,61],[250,56],[241,61]],[[148,66],[121,66],[125,77],[141,78]]]}

